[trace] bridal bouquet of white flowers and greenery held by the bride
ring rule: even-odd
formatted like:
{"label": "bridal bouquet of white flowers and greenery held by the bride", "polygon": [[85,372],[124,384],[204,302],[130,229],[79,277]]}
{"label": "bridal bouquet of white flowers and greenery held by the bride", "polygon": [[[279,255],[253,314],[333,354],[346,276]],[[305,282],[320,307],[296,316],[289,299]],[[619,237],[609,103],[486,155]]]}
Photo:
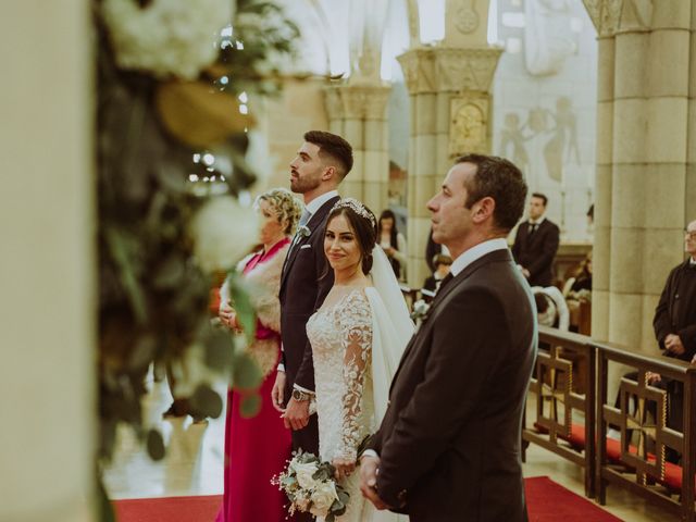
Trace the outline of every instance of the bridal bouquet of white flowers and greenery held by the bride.
{"label": "bridal bouquet of white flowers and greenery held by the bride", "polygon": [[324,517],[333,522],[346,512],[350,495],[336,484],[336,469],[330,462],[322,462],[313,453],[293,453],[287,469],[271,481],[285,492],[290,500],[289,512],[309,511],[314,517]]}

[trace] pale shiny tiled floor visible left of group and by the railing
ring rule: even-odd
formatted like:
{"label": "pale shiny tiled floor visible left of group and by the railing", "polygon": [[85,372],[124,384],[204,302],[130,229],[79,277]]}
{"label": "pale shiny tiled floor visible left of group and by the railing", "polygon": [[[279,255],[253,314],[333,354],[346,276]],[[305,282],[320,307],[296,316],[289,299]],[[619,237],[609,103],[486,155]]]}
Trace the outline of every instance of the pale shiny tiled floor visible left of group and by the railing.
{"label": "pale shiny tiled floor visible left of group and by the railing", "polygon": [[[224,386],[219,391],[224,391]],[[111,498],[222,493],[224,417],[202,424],[192,424],[190,418],[162,420],[162,412],[169,408],[170,402],[166,383],[151,382],[151,393],[146,402],[147,418],[162,430],[167,442],[167,456],[161,462],[152,462],[133,435],[123,430],[116,455],[104,478]],[[537,446],[532,445],[527,450],[524,474],[548,475],[564,487],[583,495],[581,469]],[[605,509],[630,522],[679,520],[617,486],[609,487]]]}

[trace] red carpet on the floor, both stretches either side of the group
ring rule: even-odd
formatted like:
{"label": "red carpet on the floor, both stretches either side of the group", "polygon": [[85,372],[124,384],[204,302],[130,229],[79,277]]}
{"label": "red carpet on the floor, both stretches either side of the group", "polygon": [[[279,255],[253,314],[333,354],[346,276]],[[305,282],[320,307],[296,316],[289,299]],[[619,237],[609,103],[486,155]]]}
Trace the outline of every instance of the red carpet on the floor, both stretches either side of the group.
{"label": "red carpet on the floor, both stretches either side of the group", "polygon": [[[548,476],[525,478],[530,522],[621,522]],[[117,522],[213,522],[221,495],[115,500]]]}

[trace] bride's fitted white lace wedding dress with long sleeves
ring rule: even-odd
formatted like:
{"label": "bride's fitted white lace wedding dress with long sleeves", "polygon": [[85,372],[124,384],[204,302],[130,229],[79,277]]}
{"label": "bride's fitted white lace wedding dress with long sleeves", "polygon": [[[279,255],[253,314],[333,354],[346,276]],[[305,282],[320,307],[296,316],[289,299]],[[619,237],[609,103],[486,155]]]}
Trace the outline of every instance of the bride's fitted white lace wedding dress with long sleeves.
{"label": "bride's fitted white lace wedding dress with long sleeves", "polygon": [[[335,297],[307,323],[314,358],[319,451],[321,459],[330,462],[335,458],[355,460],[360,443],[374,433],[384,415],[390,377],[407,340],[407,335],[384,327],[384,315],[389,313],[375,288],[350,288]],[[398,357],[382,349],[385,335],[389,335],[387,344],[400,347],[400,351],[395,350]],[[336,522],[408,520],[377,511],[362,497],[359,470],[341,485],[350,500]]]}

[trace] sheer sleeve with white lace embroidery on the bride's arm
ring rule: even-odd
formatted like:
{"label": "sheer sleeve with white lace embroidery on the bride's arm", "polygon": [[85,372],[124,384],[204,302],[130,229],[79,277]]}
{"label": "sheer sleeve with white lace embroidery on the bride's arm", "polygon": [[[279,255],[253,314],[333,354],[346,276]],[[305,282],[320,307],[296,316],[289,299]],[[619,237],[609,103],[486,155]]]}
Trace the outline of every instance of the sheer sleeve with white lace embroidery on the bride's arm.
{"label": "sheer sleeve with white lace embroidery on the bride's arm", "polygon": [[341,348],[344,349],[344,389],[341,447],[338,456],[347,460],[358,458],[364,376],[372,355],[372,313],[363,293],[346,300],[339,315]]}

